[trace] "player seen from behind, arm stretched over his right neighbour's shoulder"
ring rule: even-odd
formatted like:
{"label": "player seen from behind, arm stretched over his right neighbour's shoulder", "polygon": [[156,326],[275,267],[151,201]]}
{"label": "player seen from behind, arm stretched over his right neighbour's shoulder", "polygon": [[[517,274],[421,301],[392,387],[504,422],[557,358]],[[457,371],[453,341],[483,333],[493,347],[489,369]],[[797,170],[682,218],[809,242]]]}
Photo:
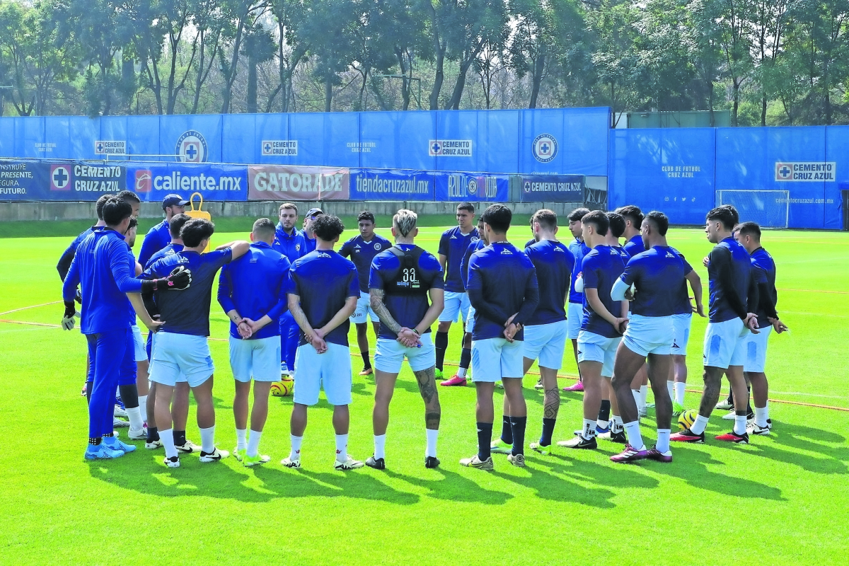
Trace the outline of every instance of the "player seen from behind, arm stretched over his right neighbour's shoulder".
{"label": "player seen from behind, arm stretched over his right neighbour's shoulder", "polygon": [[178,266],[192,272],[192,285],[179,294],[160,292],[156,305],[167,324],[156,336],[150,380],[156,384],[156,428],[165,447],[164,463],[179,468],[180,458],[172,429],[171,400],[174,388],[183,378],[197,403],[200,429],[200,462],[216,462],[230,455],[215,446],[215,407],[212,405],[212,364],[207,337],[210,335],[210,305],[216,273],[224,264],[238,259],[248,251],[244,241],[219,246],[205,253],[215,225],[202,218],[193,218],[183,225],[183,251],[167,255],[143,273],[143,277],[160,277]]}

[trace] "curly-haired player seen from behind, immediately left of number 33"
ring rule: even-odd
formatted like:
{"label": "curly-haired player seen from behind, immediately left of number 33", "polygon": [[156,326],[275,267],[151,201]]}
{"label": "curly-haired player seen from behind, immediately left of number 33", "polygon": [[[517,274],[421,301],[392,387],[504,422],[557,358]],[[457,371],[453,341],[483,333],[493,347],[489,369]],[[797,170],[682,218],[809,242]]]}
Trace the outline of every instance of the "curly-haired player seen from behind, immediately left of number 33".
{"label": "curly-haired player seen from behind, immediately left of number 33", "polygon": [[295,355],[295,406],[290,421],[292,449],[280,463],[301,468],[301,442],[306,430],[306,407],[318,403],[324,389],[333,406],[336,432],[335,469],[362,468],[348,454],[351,415],[351,356],[348,351],[349,317],[357,308],[360,286],[357,267],[333,247],[345,231],[336,216],[319,215],[311,222],[316,249],[292,264],[286,291],[289,310],[301,328]]}

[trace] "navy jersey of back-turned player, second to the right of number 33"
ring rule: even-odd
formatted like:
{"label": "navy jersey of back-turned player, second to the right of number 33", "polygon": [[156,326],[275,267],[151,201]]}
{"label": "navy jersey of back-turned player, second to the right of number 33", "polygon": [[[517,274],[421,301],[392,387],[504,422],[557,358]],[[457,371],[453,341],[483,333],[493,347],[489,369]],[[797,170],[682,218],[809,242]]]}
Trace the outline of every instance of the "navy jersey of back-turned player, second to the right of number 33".
{"label": "navy jersey of back-turned player, second to the right of number 33", "polygon": [[537,270],[539,284],[539,305],[527,326],[564,321],[564,303],[575,269],[575,257],[564,244],[551,240],[531,244],[525,253]]}

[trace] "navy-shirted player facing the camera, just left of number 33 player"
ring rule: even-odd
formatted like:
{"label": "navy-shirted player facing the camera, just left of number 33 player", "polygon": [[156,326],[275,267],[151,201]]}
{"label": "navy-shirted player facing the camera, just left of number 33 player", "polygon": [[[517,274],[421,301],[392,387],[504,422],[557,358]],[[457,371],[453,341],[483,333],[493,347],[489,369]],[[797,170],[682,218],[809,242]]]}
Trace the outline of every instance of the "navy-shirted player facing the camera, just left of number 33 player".
{"label": "navy-shirted player facing the camera, just left of number 33 player", "polygon": [[[384,249],[390,249],[392,243],[374,233],[374,214],[363,210],[357,216],[357,227],[360,230],[358,236],[348,240],[339,250],[342,257],[350,257],[357,266],[357,276],[360,280],[360,298],[357,300],[357,310],[351,315],[351,322],[357,326],[357,345],[360,347],[360,356],[363,356],[363,371],[360,375],[371,375],[373,373],[371,361],[368,359],[368,320],[374,326],[374,336],[379,337],[380,319],[372,310],[368,297],[368,273],[374,256],[380,254]],[[368,320],[367,320],[368,318]]]}

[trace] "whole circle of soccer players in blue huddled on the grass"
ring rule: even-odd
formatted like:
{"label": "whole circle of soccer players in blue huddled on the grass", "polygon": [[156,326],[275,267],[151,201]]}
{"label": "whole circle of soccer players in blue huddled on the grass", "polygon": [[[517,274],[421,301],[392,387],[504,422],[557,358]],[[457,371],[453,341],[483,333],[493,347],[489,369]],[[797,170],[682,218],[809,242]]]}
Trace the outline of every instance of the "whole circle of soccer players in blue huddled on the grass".
{"label": "whole circle of soccer players in blue huddled on the grass", "polygon": [[[732,206],[706,216],[707,239],[715,246],[703,261],[709,322],[704,391],[695,414],[683,408],[685,355],[693,314],[705,316],[702,287],[683,255],[667,244],[669,220],[662,212],[644,215],[633,205],[606,213],[573,210],[564,243],[554,211],[537,210],[531,216],[533,238],[518,249],[507,238],[513,220],[507,206],[489,206],[475,227],[475,207],[462,203],[458,226],[442,234],[433,255],[415,244],[418,216],[412,210],[393,216],[394,244],[374,232],[374,215],[364,211],[359,235],[336,252],[342,221],[313,208],[298,230],[292,203],[279,206],[276,226],[267,218],[257,220],[250,242],[208,251],[215,227],[184,214],[187,204],[177,194],[166,196],[165,220],[150,229],[137,261],[132,247],[138,195],[104,195],[97,203],[97,224],[59,260],[62,326],[70,330],[80,317],[87,338],[89,460],[136,450],[115,432],[115,424],[126,423],[115,418],[116,392],[129,420],[128,438],[144,440],[150,450],[163,448],[166,466],[179,467],[180,455],[193,452],[200,453],[200,462],[229,457],[215,443],[215,367],[207,343],[216,278],[218,303],[231,321],[233,455],[246,467],[271,461],[259,450],[268,397],[273,387],[294,382],[291,450],[281,461],[284,467],[301,467],[307,407],[318,403],[323,390],[333,406],[335,469],[386,468],[389,407],[405,358],[424,401],[426,468],[440,465],[436,384],[465,385],[469,377],[477,397],[478,450],[460,464],[492,469],[492,454],[501,453],[524,467],[522,378],[535,361],[536,387],[544,389],[542,434],[528,447],[543,455],[552,454],[554,446],[596,449],[600,437],[624,445],[610,457],[613,462],[672,462],[672,441],[705,441],[715,406],[730,408],[734,419],[734,429],[717,440],[746,444],[750,434],[770,433],[767,339],[773,328],[781,333],[787,327],[775,310],[775,264],[761,247],[760,227],[739,223]],[[146,343],[137,317],[150,331]],[[377,336],[374,367],[369,319]],[[347,451],[351,322],[363,357],[360,375],[374,374],[375,382],[374,453],[365,462]],[[464,324],[458,372],[439,381],[453,322]],[[554,443],[557,373],[570,340],[580,382],[567,389],[584,392],[583,423],[569,440]],[[732,395],[717,403],[723,375]],[[657,421],[657,442],[650,449],[640,432],[649,383]],[[497,385],[504,390],[503,421],[493,440]],[[200,446],[186,437],[189,391],[197,404]],[[672,434],[673,416],[680,416],[677,434]]]}

